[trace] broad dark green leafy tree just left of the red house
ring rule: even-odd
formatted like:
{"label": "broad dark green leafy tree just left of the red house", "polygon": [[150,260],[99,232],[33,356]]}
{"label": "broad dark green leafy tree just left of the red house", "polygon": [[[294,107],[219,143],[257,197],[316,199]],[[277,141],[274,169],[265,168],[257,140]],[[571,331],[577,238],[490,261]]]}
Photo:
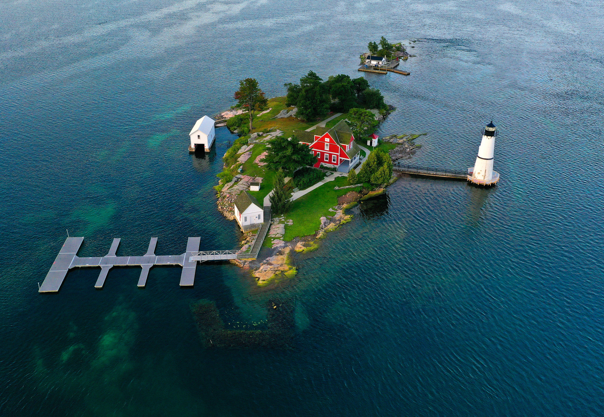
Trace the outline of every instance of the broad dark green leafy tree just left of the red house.
{"label": "broad dark green leafy tree just left of the red house", "polygon": [[270,170],[281,169],[289,175],[300,167],[316,163],[316,157],[308,145],[300,143],[295,136],[289,139],[276,137],[268,143],[271,147],[268,148],[264,162]]}

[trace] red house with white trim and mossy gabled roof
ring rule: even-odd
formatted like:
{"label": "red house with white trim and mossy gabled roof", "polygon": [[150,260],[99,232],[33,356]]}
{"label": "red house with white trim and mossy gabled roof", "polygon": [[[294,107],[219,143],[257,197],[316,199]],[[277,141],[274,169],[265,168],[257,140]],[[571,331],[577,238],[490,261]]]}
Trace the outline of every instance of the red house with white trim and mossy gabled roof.
{"label": "red house with white trim and mossy gabled roof", "polygon": [[358,163],[361,149],[348,124],[340,120],[333,128],[315,128],[312,132],[296,132],[300,143],[307,144],[316,156],[315,168],[321,165],[335,167],[338,172],[349,172]]}

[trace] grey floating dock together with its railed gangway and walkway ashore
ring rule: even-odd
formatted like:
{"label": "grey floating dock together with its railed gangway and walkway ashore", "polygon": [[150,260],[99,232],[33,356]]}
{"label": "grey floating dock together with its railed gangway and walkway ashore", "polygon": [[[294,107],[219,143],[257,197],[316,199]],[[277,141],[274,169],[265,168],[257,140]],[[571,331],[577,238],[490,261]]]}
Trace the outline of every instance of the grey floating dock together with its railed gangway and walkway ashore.
{"label": "grey floating dock together with its railed gangway and walkway ashore", "polygon": [[262,247],[262,242],[266,238],[266,233],[271,227],[271,206],[264,207],[264,215],[265,222],[260,224],[260,230],[254,238],[252,247],[246,251],[199,251],[201,238],[196,237],[188,238],[185,253],[181,255],[158,256],[155,254],[157,238],[151,238],[147,252],[143,256],[117,256],[117,248],[120,245],[121,239],[115,238],[111,243],[109,252],[105,256],[79,257],[77,256],[77,252],[82,246],[84,238],[67,238],[38,291],[39,293],[57,293],[69,270],[76,267],[100,267],[101,272],[97,282],[94,284],[94,288],[102,289],[107,275],[113,267],[141,267],[142,270],[137,285],[139,288],[144,288],[147,285],[149,270],[155,267],[155,265],[179,265],[182,267],[180,286],[193,286],[198,262],[205,262],[207,260],[256,259],[260,247]]}

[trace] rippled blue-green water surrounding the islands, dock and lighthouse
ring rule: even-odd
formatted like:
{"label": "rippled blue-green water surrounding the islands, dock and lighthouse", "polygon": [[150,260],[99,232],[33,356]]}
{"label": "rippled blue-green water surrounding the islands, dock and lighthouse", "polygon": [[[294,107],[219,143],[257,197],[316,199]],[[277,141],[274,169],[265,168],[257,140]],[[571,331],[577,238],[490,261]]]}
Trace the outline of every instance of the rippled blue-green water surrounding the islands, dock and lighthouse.
{"label": "rippled blue-green water surrounding the islands, dock and lighthouse", "polygon": [[[0,414],[603,415],[604,12],[526,3],[0,5]],[[193,121],[245,77],[358,76],[382,34],[420,41],[411,76],[365,74],[397,107],[379,133],[428,132],[413,163],[464,169],[493,118],[498,186],[402,178],[266,291],[216,263],[194,289],[121,268],[37,293],[66,230],[82,256],[235,247],[211,188],[234,137],[189,155]],[[191,303],[251,329],[271,297],[295,349],[202,349]]]}

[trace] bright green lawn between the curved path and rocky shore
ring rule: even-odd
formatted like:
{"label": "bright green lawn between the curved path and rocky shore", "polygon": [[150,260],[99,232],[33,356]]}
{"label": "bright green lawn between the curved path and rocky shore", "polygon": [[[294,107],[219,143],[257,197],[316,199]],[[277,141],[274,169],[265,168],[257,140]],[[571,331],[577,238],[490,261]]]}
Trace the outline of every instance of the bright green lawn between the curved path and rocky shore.
{"label": "bright green lawn between the curved path and rocky shore", "polygon": [[312,190],[307,195],[301,196],[294,204],[291,210],[285,215],[286,219],[292,219],[294,224],[285,226],[284,241],[291,241],[296,236],[308,236],[316,233],[321,226],[322,216],[333,216],[334,212],[330,212],[329,208],[338,204],[338,197],[349,191],[360,189],[347,188],[343,190],[334,190],[333,187],[347,186],[348,179],[339,177],[323,186]]}

